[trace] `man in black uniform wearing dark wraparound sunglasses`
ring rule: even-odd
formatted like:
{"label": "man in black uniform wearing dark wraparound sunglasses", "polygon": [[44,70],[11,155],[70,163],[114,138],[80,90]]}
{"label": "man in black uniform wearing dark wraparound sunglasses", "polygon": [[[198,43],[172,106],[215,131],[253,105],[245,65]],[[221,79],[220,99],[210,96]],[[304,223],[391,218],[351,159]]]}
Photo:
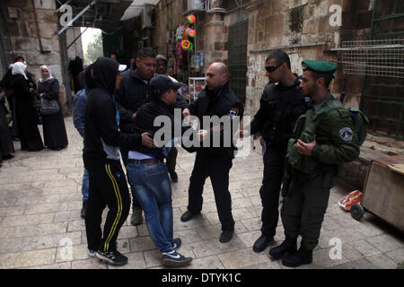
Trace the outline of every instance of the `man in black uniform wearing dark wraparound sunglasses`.
{"label": "man in black uniform wearing dark wraparound sunglasses", "polygon": [[[259,111],[250,124],[250,134],[261,132],[267,144],[264,175],[259,189],[263,207],[261,236],[252,248],[255,252],[267,248],[276,234],[287,141],[292,136],[295,120],[306,110],[299,88],[301,78],[292,73],[289,56],[282,50],[271,53],[266,59],[265,69],[269,83],[259,100]],[[248,130],[240,131],[240,135],[248,136]]]}

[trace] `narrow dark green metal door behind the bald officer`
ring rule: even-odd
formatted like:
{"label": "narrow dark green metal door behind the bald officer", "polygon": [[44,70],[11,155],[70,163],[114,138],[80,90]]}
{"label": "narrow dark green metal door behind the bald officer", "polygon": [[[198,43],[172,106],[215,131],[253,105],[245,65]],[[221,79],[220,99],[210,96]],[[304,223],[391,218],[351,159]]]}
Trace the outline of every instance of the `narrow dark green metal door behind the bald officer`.
{"label": "narrow dark green metal door behind the bald officer", "polygon": [[228,33],[228,66],[230,88],[239,100],[245,101],[247,74],[247,36],[248,21],[238,22],[229,26]]}

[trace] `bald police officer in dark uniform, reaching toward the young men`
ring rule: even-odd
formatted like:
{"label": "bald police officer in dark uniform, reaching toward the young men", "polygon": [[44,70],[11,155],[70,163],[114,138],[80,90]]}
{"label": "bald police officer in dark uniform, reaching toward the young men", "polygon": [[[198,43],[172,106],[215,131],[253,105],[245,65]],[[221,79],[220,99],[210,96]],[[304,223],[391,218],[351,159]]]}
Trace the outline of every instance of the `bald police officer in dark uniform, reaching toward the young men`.
{"label": "bald police officer in dark uniform, reaching toward the young men", "polygon": [[[209,65],[206,71],[206,88],[198,95],[198,100],[190,106],[191,115],[199,118],[203,129],[210,135],[215,128],[203,126],[203,116],[234,116],[242,117],[242,103],[229,87],[229,74],[224,63]],[[232,120],[232,124],[234,124]],[[236,126],[237,127],[237,126]],[[233,130],[233,129],[232,129]],[[215,203],[219,220],[222,223],[220,242],[225,243],[233,238],[234,221],[232,215],[232,197],[229,192],[229,171],[232,168],[234,147],[224,147],[224,130],[220,131],[220,147],[197,148],[194,170],[189,178],[188,211],[181,216],[181,222],[188,222],[202,210],[203,189],[205,180],[210,178],[215,194]]]}

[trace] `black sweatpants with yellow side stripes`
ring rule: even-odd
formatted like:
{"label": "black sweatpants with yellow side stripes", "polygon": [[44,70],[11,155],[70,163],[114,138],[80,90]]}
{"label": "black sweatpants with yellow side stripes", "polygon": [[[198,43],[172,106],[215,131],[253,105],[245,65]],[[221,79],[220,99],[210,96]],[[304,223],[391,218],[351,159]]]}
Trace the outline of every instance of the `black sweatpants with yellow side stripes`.
{"label": "black sweatpants with yellow side stripes", "polygon": [[[85,213],[88,248],[94,251],[110,251],[116,248],[119,230],[129,214],[130,197],[127,178],[120,161],[88,156],[83,156],[83,161],[90,176]],[[102,232],[101,215],[106,205],[110,210]]]}

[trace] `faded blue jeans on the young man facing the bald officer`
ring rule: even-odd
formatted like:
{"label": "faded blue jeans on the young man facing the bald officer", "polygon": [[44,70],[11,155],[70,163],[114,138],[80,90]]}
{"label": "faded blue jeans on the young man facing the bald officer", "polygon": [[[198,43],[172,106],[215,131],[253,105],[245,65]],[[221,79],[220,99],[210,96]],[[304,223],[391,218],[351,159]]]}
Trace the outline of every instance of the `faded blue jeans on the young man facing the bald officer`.
{"label": "faded blue jeans on the young man facing the bald officer", "polygon": [[154,245],[160,252],[172,251],[171,183],[164,163],[127,163],[127,181],[143,210]]}

